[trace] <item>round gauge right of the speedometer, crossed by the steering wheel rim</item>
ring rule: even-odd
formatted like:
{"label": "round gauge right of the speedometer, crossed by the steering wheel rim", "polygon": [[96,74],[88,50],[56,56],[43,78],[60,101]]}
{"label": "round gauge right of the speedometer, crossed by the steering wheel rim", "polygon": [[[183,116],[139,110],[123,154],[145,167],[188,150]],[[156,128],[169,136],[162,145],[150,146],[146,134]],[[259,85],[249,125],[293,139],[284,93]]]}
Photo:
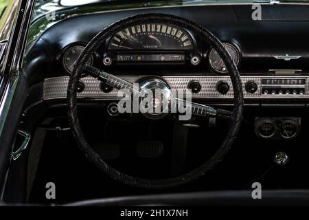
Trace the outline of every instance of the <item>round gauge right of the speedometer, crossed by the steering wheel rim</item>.
{"label": "round gauge right of the speedometer, crossed by the steering wheel rim", "polygon": [[[234,45],[231,45],[230,43],[223,43],[223,45],[225,45],[225,49],[227,49],[227,51],[229,52],[229,54],[231,55],[233,61],[237,66],[240,62],[240,53],[238,52],[238,49]],[[228,73],[225,63],[221,59],[220,55],[216,52],[216,50],[214,50],[214,48],[211,49],[211,51],[209,52],[209,65],[211,69],[213,69],[215,72],[219,74]]]}

